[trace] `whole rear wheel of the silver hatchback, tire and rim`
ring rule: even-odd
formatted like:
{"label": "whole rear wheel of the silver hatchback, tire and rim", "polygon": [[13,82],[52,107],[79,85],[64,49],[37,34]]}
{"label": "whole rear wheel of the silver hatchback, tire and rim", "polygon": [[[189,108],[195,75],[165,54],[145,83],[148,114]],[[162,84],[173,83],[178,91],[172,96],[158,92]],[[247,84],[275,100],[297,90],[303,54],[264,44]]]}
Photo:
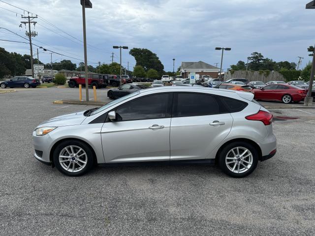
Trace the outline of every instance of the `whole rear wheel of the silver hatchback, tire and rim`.
{"label": "whole rear wheel of the silver hatchback, tire and rim", "polygon": [[221,170],[230,177],[246,177],[258,163],[258,151],[251,144],[234,142],[221,150],[219,164]]}

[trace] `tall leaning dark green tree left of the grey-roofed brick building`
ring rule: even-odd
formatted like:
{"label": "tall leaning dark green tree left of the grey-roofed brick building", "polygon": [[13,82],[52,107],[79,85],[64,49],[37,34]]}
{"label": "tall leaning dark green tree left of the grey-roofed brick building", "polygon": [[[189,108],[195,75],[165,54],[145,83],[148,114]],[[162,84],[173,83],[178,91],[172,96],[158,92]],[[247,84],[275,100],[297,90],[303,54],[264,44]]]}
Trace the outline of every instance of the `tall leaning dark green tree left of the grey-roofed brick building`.
{"label": "tall leaning dark green tree left of the grey-roofed brick building", "polygon": [[164,66],[158,59],[158,56],[145,48],[133,48],[129,51],[129,54],[136,60],[136,65],[143,67],[145,71],[149,69],[155,69],[159,75],[163,74]]}

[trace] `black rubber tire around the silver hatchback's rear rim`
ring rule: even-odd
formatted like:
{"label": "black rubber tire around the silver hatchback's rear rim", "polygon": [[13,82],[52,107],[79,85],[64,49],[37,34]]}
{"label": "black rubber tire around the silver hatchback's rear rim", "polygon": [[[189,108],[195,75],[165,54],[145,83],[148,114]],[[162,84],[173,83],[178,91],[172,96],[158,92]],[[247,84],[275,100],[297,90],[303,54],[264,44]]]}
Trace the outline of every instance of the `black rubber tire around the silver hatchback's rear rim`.
{"label": "black rubber tire around the silver hatchback's rear rim", "polygon": [[[252,165],[249,167],[248,170],[244,171],[243,173],[232,172],[232,170],[230,170],[227,167],[228,164],[225,163],[225,157],[227,156],[227,154],[230,152],[230,150],[232,150],[233,148],[236,148],[236,147],[247,148],[252,153]],[[249,158],[251,158],[251,157],[249,157]],[[234,161],[234,160],[231,160],[231,161]],[[238,157],[237,161],[234,162],[234,163],[236,163],[236,167],[240,166],[240,168],[244,168],[241,165],[241,161],[242,161],[241,158]],[[234,163],[231,163],[230,165],[233,165],[233,167],[234,167],[234,165],[235,165]],[[243,161],[242,161],[242,163],[243,163]],[[233,143],[230,143],[227,146],[225,146],[221,150],[221,152],[219,153],[219,165],[220,165],[220,168],[226,175],[228,175],[230,177],[242,178],[242,177],[246,177],[246,176],[250,175],[255,170],[255,168],[257,166],[257,163],[258,163],[258,150],[255,147],[253,147],[251,144],[248,144],[248,143],[245,143],[245,142],[233,142]]]}

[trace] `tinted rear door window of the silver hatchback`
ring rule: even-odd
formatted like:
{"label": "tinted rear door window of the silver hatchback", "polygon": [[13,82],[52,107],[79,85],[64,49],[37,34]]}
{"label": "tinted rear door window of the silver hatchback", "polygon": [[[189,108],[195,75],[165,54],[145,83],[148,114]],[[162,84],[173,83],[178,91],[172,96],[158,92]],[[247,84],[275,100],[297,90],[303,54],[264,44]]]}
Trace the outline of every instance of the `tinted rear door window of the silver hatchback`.
{"label": "tinted rear door window of the silver hatchback", "polygon": [[202,93],[178,93],[173,114],[176,117],[208,116],[222,113],[215,96]]}

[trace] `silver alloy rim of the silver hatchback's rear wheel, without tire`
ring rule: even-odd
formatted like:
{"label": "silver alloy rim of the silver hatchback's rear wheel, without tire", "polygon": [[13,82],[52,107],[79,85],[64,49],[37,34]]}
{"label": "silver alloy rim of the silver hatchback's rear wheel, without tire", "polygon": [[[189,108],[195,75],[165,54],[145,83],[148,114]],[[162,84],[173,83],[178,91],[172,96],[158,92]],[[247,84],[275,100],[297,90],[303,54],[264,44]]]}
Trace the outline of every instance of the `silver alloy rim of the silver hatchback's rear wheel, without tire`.
{"label": "silver alloy rim of the silver hatchback's rear wheel, without tire", "polygon": [[252,163],[252,152],[248,148],[232,148],[225,156],[225,165],[233,173],[247,172],[251,168]]}

